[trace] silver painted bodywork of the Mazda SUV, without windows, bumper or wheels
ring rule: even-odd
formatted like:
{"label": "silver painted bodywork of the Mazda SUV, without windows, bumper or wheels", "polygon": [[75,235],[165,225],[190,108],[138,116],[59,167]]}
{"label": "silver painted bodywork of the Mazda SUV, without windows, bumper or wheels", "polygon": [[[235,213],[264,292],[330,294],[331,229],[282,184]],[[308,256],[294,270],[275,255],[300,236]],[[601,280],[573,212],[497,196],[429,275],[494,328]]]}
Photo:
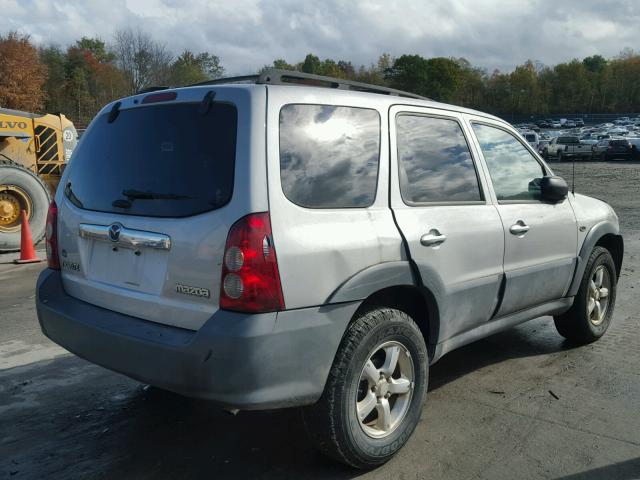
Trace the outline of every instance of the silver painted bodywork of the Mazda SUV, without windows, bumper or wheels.
{"label": "silver painted bodywork of the Mazda SUV, without windows, bumper or wheels", "polygon": [[[582,195],[569,194],[558,204],[499,203],[471,121],[507,129],[548,174],[552,172],[515,129],[493,116],[430,101],[293,85],[189,87],[176,89],[177,101],[201,101],[209,90],[216,92],[215,101],[231,102],[238,110],[230,203],[186,218],[150,218],[81,210],[59,189],[61,260],[80,265],[79,271],[62,271],[68,295],[119,314],[198,331],[219,310],[229,228],[248,213],[269,211],[288,319],[296,309],[359,303],[391,286],[427,289],[439,310],[437,338],[428,339],[435,346],[435,361],[446,351],[499,329],[566,310],[572,302],[569,293],[578,253],[588,232],[604,222],[608,231],[618,233],[611,207]],[[153,108],[137,103],[143,96],[121,100],[121,109]],[[381,148],[373,205],[308,209],[285,197],[280,180],[279,112],[291,103],[377,110]],[[394,122],[400,112],[444,116],[461,125],[484,201],[423,206],[403,202]],[[72,170],[73,158],[61,185]],[[529,230],[524,235],[510,233],[519,221]],[[104,237],[115,222],[124,227],[120,242]],[[176,285],[208,289],[211,295],[182,295]],[[341,328],[348,320],[340,322]],[[328,358],[335,354],[339,338],[326,346]]]}

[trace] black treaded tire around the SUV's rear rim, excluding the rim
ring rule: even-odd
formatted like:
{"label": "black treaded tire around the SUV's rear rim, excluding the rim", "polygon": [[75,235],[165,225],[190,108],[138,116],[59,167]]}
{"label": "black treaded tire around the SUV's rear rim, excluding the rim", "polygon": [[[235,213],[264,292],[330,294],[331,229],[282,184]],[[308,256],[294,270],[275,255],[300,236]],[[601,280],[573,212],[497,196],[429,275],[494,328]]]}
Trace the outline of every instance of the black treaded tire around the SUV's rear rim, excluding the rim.
{"label": "black treaded tire around the SUV's rear rim, excluding the rim", "polygon": [[[397,340],[414,360],[415,384],[411,405],[402,423],[382,439],[362,430],[354,407],[361,369],[372,349]],[[322,397],[303,409],[312,441],[323,453],[356,468],[373,468],[389,460],[409,439],[422,413],[427,391],[428,354],[418,326],[404,312],[371,310],[347,328],[336,354]]]}

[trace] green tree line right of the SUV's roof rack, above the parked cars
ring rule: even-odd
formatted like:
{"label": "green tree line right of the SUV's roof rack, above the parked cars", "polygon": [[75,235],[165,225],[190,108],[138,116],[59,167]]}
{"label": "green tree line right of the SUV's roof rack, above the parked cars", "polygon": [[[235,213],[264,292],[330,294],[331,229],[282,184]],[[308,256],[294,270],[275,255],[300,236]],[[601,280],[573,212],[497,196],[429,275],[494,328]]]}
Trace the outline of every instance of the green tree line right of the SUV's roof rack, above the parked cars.
{"label": "green tree line right of the SUV's roof rack, above the parked cars", "polygon": [[464,58],[387,53],[370,66],[310,53],[300,63],[278,59],[263,70],[274,67],[386,85],[498,115],[640,111],[640,54],[630,49],[613,59],[592,55],[553,67],[527,60],[510,73],[489,74]]}

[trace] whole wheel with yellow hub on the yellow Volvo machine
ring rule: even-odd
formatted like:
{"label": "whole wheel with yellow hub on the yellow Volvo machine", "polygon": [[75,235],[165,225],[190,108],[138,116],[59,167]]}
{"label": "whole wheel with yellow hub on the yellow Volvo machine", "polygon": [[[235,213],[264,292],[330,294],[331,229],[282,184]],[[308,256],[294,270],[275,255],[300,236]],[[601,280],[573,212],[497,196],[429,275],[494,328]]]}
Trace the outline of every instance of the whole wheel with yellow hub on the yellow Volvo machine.
{"label": "whole wheel with yellow hub on the yellow Volvo machine", "polygon": [[30,170],[10,160],[0,160],[0,251],[20,248],[20,212],[29,220],[33,242],[44,237],[49,192]]}

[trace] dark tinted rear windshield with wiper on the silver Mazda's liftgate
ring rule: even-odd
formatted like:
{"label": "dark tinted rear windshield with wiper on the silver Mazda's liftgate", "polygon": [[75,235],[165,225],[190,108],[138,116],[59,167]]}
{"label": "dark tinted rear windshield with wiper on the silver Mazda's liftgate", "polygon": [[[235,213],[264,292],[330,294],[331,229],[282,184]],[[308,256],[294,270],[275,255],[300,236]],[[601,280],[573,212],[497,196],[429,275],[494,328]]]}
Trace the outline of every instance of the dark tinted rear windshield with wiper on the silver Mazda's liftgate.
{"label": "dark tinted rear windshield with wiper on the silver Mazda's liftgate", "polygon": [[123,110],[95,119],[73,154],[67,196],[87,210],[185,217],[231,199],[237,111],[214,103]]}

